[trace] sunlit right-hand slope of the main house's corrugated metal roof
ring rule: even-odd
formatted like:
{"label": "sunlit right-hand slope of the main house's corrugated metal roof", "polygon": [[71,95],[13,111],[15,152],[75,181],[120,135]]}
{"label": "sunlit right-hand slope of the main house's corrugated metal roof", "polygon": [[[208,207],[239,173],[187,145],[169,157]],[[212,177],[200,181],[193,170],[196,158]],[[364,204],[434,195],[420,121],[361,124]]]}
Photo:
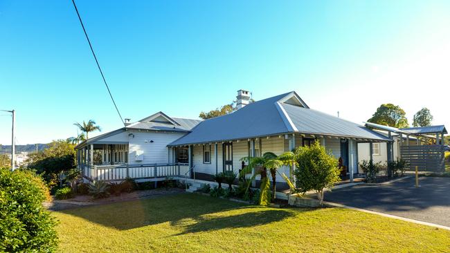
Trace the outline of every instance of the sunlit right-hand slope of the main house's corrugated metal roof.
{"label": "sunlit right-hand slope of the main house's corrugated metal roof", "polygon": [[314,109],[305,109],[291,104],[282,104],[299,133],[339,135],[354,138],[389,140],[386,136],[363,125],[337,118]]}

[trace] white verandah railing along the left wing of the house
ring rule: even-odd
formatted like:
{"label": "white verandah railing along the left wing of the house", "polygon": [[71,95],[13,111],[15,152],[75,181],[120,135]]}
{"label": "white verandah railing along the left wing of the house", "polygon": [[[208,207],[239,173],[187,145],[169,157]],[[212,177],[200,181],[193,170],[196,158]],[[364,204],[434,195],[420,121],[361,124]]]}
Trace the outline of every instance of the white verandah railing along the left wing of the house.
{"label": "white verandah railing along the left wing of the house", "polygon": [[185,177],[189,171],[187,163],[154,165],[80,165],[84,178],[88,180],[156,179],[166,177]]}

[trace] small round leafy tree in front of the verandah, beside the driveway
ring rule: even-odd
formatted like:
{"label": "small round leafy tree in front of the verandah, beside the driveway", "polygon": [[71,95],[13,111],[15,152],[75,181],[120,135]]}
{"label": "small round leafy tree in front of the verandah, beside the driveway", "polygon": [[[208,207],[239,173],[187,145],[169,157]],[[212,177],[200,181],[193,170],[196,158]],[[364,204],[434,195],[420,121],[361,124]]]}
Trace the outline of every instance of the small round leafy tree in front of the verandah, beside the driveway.
{"label": "small round leafy tree in front of the verandah, beside the driveway", "polygon": [[317,198],[322,205],[323,189],[332,187],[339,182],[339,168],[337,160],[325,147],[314,142],[309,147],[299,147],[296,150],[298,167],[294,171],[299,191],[316,191]]}

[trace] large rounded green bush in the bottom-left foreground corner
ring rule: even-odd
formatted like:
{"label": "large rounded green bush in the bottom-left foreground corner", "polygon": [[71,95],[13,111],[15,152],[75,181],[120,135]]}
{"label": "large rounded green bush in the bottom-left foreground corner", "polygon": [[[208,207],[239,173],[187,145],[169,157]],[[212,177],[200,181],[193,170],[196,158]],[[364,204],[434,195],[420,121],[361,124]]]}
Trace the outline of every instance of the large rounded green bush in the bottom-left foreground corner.
{"label": "large rounded green bush in the bottom-left foreground corner", "polygon": [[56,222],[42,206],[47,194],[32,172],[0,169],[0,252],[56,250]]}

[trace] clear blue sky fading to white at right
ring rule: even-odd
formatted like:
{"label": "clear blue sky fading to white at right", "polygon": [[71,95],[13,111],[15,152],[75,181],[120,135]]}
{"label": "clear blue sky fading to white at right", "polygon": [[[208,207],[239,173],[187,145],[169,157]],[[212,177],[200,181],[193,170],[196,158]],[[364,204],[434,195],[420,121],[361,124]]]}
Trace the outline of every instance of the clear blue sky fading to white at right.
{"label": "clear blue sky fading to white at right", "polygon": [[[382,103],[450,127],[450,1],[76,1],[124,118],[197,118],[296,91],[361,123]],[[0,109],[17,144],[122,126],[70,0],[0,1]],[[10,116],[0,112],[0,143]]]}

